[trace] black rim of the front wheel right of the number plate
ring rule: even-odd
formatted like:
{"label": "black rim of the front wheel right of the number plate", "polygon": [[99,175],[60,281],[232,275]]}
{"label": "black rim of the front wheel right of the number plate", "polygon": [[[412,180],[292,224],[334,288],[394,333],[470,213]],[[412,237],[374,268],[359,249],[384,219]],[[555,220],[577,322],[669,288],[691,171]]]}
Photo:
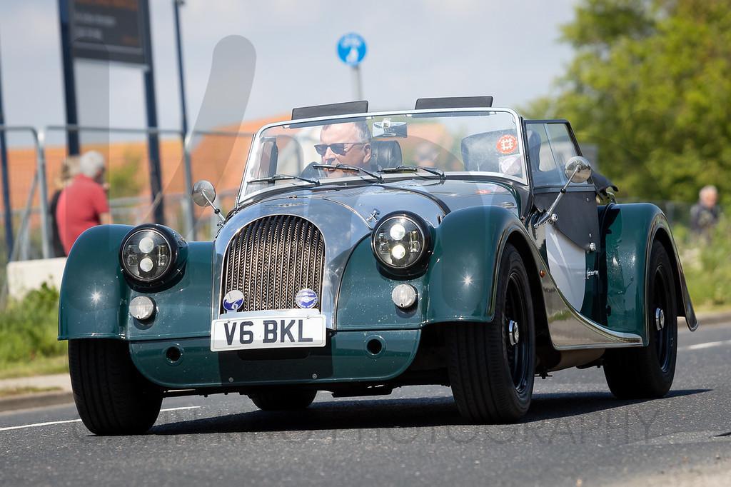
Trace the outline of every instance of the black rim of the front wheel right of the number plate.
{"label": "black rim of the front wheel right of the number plate", "polygon": [[[526,389],[529,380],[529,334],[527,330],[526,293],[523,291],[518,274],[511,273],[507,282],[505,295],[504,341],[507,352],[507,363],[510,369],[512,384],[518,393]],[[513,344],[510,339],[510,322],[518,327],[518,342]]]}

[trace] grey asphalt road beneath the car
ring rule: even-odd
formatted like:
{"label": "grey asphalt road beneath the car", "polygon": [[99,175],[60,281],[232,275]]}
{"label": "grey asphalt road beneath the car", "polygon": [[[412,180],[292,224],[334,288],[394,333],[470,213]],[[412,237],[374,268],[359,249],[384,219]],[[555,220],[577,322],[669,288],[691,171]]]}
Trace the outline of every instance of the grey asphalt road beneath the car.
{"label": "grey asphalt road beneath the car", "polygon": [[166,399],[140,437],[94,437],[73,406],[5,413],[0,485],[728,485],[730,363],[731,324],[681,330],[666,398],[617,401],[601,369],[571,369],[537,379],[529,415],[508,426],[463,423],[438,387],[319,393],[297,414],[245,396]]}

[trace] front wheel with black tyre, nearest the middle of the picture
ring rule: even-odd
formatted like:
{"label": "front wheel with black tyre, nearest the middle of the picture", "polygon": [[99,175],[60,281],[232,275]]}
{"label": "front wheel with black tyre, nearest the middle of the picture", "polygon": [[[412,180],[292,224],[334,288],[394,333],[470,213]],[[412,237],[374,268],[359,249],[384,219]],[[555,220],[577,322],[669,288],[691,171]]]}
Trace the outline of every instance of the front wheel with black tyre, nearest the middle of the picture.
{"label": "front wheel with black tyre, nearest the middle of the picture", "polygon": [[531,405],[535,371],[533,302],[528,273],[508,244],[499,265],[490,323],[456,324],[448,336],[452,394],[476,423],[510,423]]}

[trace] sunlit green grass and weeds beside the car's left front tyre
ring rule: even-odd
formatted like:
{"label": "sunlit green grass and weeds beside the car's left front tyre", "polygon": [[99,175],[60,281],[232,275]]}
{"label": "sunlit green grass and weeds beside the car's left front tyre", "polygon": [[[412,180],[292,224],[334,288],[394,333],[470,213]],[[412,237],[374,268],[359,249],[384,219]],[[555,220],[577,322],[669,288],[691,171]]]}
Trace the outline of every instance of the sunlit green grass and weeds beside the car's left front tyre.
{"label": "sunlit green grass and weeds beside the car's left front tyre", "polygon": [[67,350],[58,341],[58,291],[43,284],[0,312],[0,370]]}

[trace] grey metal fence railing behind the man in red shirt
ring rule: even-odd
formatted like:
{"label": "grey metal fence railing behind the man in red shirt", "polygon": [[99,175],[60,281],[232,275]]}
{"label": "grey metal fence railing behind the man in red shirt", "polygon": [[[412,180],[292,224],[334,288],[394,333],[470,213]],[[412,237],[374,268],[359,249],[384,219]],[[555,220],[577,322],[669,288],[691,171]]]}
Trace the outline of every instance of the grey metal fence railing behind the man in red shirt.
{"label": "grey metal fence railing behind the man in red shirt", "polygon": [[[136,129],[126,127],[94,127],[94,126],[78,126],[78,125],[49,125],[43,130],[37,130],[34,127],[29,126],[9,126],[0,125],[1,132],[26,132],[31,135],[35,150],[36,167],[34,177],[31,180],[31,188],[29,190],[28,197],[26,199],[26,205],[23,208],[22,216],[20,218],[20,227],[18,229],[18,241],[12,247],[12,252],[8,256],[8,262],[18,260],[18,255],[23,254],[23,257],[27,258],[27,248],[29,245],[29,224],[32,214],[35,211],[40,216],[40,240],[41,240],[41,254],[44,259],[52,257],[51,251],[51,231],[50,231],[50,218],[48,211],[48,181],[47,181],[47,167],[46,167],[46,146],[45,140],[46,135],[50,132],[96,132],[96,133],[109,133],[109,134],[128,134],[128,135],[175,135],[180,137],[181,148],[183,154],[183,169],[185,176],[185,186],[188,189],[185,194],[166,194],[164,190],[157,192],[154,196],[153,201],[149,207],[149,211],[154,211],[157,205],[162,202],[163,197],[174,197],[175,200],[182,200],[184,197],[185,208],[183,211],[184,222],[183,222],[183,235],[187,239],[192,239],[195,236],[195,217],[194,217],[194,202],[190,189],[192,188],[192,151],[193,151],[193,139],[199,136],[222,136],[222,137],[251,137],[251,132],[230,132],[223,130],[192,130],[187,134],[183,134],[177,129]],[[39,192],[39,205],[38,208],[34,208],[33,202],[36,196],[36,192]],[[134,198],[133,198],[134,199]],[[141,198],[140,198],[141,200]],[[132,201],[132,200],[130,200]],[[110,202],[112,203],[112,202]]]}

